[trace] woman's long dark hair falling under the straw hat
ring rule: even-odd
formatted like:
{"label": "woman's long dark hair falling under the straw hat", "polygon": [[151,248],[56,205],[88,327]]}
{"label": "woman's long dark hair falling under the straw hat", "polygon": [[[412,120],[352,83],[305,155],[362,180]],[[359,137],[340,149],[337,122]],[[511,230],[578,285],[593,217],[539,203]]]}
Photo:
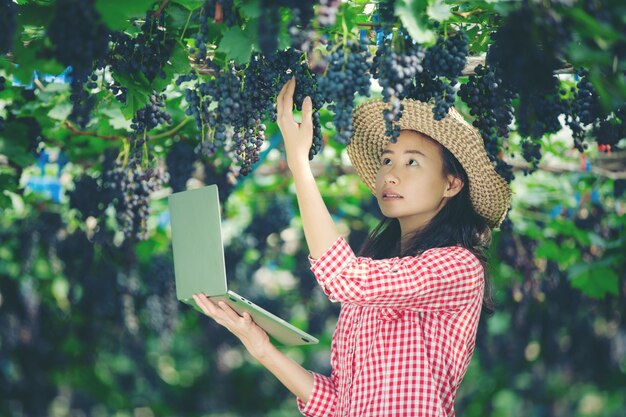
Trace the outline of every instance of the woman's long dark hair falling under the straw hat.
{"label": "woman's long dark hair falling under the straw hat", "polygon": [[448,149],[441,146],[439,142],[429,139],[436,143],[441,151],[443,175],[460,178],[464,184],[463,188],[448,200],[424,228],[405,239],[403,247],[401,247],[400,222],[395,218],[384,217],[361,246],[359,256],[374,259],[417,256],[432,248],[462,246],[471,251],[483,267],[485,273],[483,311],[491,315],[493,313],[492,287],[485,253],[491,243],[491,229],[486,220],[478,215],[472,206],[469,196],[469,179],[463,166]]}

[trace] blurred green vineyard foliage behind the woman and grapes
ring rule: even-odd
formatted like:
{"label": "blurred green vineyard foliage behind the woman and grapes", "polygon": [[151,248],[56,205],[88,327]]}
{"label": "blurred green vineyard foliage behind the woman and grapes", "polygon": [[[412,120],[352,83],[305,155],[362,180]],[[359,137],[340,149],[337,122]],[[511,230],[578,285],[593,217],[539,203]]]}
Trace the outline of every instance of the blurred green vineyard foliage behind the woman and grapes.
{"label": "blurred green vineyard foliage behind the woman and grapes", "polygon": [[[71,105],[65,67],[44,53],[49,40],[42,28],[55,2],[17,3],[20,35],[11,55],[0,56],[0,74],[9,80],[0,92],[0,114],[21,118],[21,124],[7,124],[0,132],[0,415],[297,415],[293,398],[232,336],[176,302],[166,204],[171,189],[152,195],[149,238],[143,241],[124,239],[114,225],[97,234],[97,226],[69,206],[75,180],[85,174],[99,178],[104,152],[123,150],[129,119],[152,89],[166,89],[174,119],[172,126],[152,135],[155,159],[162,161],[174,143],[199,141],[173,80],[190,70],[187,31],[197,26],[188,18],[202,2],[168,2],[167,26],[177,43],[166,77],[149,83],[116,74],[129,89],[128,105],[115,102],[106,89],[98,90],[99,104],[83,131],[66,123]],[[619,26],[590,21],[574,3],[566,9],[577,17],[578,30],[569,61],[592,74],[613,65],[623,70],[623,8],[606,3],[617,13]],[[145,0],[95,4],[108,27],[131,32],[136,30],[131,19],[159,6]],[[249,24],[231,29],[215,24],[211,30],[224,61],[245,62],[258,48],[253,22],[259,4],[237,4],[248,13]],[[481,1],[398,4],[412,35],[426,38],[435,20],[431,11],[430,23],[424,24],[420,16],[427,8],[469,13],[441,19],[450,25],[474,19],[495,28],[510,6]],[[358,33],[358,23],[371,21],[363,12],[366,6],[351,2],[342,9],[340,16],[351,31]],[[476,10],[482,12],[472,13]],[[289,14],[281,9],[283,22]],[[472,38],[474,54],[485,51],[488,32]],[[288,43],[283,27],[279,45]],[[595,80],[599,90],[606,90],[609,106],[626,97],[623,73],[611,74]],[[562,82],[573,81],[565,76]],[[27,118],[37,121],[40,135],[27,129]],[[313,161],[318,183],[341,230],[358,247],[376,223],[376,204],[352,174],[343,146],[333,140],[327,110],[322,119],[326,146]],[[520,140],[511,136],[511,153],[519,150]],[[607,155],[592,146],[581,156],[571,149],[567,129],[540,142],[542,168],[531,175],[517,172],[509,219],[494,233],[490,256],[497,310],[481,322],[457,414],[622,416],[626,202],[619,179],[624,177],[609,168],[623,163],[624,154],[619,147]],[[248,297],[319,335],[319,346],[285,351],[310,369],[328,372],[338,308],[308,270],[275,126],[268,124],[262,163],[250,176],[233,182],[228,163],[228,158],[198,158],[188,186],[224,184],[232,279]]]}

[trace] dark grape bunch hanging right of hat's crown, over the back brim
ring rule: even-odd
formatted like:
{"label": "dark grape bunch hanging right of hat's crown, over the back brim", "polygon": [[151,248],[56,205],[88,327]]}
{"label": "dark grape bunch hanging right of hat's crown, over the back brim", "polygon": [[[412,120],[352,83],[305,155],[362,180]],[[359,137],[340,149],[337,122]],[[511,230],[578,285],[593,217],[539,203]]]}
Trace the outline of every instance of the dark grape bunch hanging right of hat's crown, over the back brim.
{"label": "dark grape bunch hanging right of hat's crown, over the back brim", "polygon": [[472,124],[484,142],[485,150],[496,171],[508,182],[513,179],[511,166],[499,157],[500,149],[509,137],[513,121],[513,93],[507,90],[502,80],[496,77],[490,67],[476,66],[475,75],[459,88],[459,97],[468,105]]}

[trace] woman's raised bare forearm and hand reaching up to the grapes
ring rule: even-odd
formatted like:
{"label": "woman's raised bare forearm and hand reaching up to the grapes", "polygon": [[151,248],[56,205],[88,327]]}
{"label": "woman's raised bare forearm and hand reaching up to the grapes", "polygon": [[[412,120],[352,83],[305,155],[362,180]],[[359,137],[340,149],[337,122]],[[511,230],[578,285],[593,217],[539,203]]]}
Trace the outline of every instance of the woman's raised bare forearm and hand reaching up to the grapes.
{"label": "woman's raised bare forearm and hand reaching up to the grapes", "polygon": [[297,123],[293,118],[295,89],[294,77],[283,86],[276,97],[277,121],[285,143],[287,165],[296,186],[304,236],[311,257],[318,258],[331,247],[340,234],[330,217],[309,165],[309,150],[313,143],[311,98],[304,99],[302,123]]}

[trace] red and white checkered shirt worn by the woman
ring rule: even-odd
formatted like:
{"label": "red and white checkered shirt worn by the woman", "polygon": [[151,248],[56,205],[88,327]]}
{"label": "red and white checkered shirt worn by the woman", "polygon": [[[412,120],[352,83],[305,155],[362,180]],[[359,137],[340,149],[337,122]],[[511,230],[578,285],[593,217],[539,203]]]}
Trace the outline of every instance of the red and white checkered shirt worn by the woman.
{"label": "red and white checkered shirt worn by the woman", "polygon": [[482,307],[483,268],[459,246],[357,258],[340,237],[311,270],[341,313],[330,377],[312,372],[305,416],[451,417]]}

